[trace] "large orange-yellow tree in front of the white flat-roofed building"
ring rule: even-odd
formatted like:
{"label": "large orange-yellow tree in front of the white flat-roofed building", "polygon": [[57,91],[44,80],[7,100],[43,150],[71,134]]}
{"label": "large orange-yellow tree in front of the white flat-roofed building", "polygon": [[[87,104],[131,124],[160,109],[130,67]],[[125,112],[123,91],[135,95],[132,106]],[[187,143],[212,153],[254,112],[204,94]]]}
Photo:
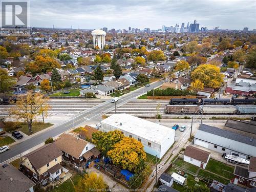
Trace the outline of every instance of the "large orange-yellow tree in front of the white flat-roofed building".
{"label": "large orange-yellow tree in front of the white flat-roofed building", "polygon": [[114,164],[131,172],[138,168],[141,160],[146,160],[142,143],[128,137],[123,137],[120,142],[116,143],[113,150],[108,152],[108,156]]}

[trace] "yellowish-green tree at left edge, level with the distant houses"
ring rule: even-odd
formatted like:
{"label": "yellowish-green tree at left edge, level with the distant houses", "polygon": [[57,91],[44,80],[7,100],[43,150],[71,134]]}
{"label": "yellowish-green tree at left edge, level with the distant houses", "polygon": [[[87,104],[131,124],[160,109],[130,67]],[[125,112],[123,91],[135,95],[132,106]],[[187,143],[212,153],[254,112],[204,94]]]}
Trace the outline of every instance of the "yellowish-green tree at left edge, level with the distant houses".
{"label": "yellowish-green tree at left edge, level with the distant houses", "polygon": [[8,75],[6,70],[0,68],[0,93],[10,91],[14,85],[14,79]]}

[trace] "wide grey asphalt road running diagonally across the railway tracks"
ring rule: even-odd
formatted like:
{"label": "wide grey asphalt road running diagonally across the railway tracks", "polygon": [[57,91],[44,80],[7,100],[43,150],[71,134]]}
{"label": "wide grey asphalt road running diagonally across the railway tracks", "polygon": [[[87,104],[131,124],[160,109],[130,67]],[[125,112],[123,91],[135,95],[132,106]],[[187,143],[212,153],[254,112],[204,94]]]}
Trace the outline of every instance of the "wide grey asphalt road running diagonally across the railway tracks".
{"label": "wide grey asphalt road running diagonally across the railway tracks", "polygon": [[[146,93],[148,90],[151,90],[155,87],[160,86],[161,84],[162,84],[161,81],[157,81],[157,82],[152,83],[151,86],[148,88],[143,87],[143,88],[135,90],[127,95],[124,95],[124,96],[120,97],[118,102],[116,102],[116,106],[122,105],[122,104],[134,99],[138,95],[140,95],[142,93]],[[9,151],[6,151],[6,152],[0,154],[0,163],[6,161],[8,159],[11,159],[17,155],[20,155],[20,154],[24,153],[25,151],[29,150],[30,148],[32,148],[42,142],[45,142],[45,140],[48,139],[49,137],[55,137],[65,131],[71,129],[72,127],[75,127],[75,126],[81,124],[81,123],[87,122],[92,119],[97,119],[100,121],[102,114],[105,114],[106,112],[113,110],[114,107],[115,107],[115,104],[111,103],[109,100],[109,101],[103,102],[99,105],[96,105],[91,109],[80,112],[79,114],[71,115],[69,120],[67,120],[67,121],[63,120],[65,122],[54,126],[52,129],[42,132],[40,134],[37,134],[35,136],[32,135],[32,137],[30,139],[27,139],[21,143],[11,146]]]}

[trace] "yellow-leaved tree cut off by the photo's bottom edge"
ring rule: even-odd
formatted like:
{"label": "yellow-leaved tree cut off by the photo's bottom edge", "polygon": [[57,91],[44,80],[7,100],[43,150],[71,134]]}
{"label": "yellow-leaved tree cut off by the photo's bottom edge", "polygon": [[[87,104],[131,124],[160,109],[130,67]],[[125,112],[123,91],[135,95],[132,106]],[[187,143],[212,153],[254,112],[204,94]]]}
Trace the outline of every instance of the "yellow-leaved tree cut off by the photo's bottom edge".
{"label": "yellow-leaved tree cut off by the photo's bottom edge", "polygon": [[76,192],[104,191],[108,188],[109,186],[103,181],[103,177],[95,172],[84,174],[75,186]]}

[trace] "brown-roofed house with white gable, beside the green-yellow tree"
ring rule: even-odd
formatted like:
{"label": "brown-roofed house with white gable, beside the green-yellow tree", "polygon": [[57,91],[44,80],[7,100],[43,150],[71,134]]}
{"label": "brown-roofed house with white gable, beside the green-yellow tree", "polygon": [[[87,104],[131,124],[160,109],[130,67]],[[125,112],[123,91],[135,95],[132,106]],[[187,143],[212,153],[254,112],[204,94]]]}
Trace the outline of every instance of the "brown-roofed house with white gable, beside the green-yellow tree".
{"label": "brown-roofed house with white gable, beside the green-yellow tree", "polygon": [[63,159],[77,166],[84,166],[100,155],[94,144],[74,135],[61,134],[55,143],[62,151]]}

